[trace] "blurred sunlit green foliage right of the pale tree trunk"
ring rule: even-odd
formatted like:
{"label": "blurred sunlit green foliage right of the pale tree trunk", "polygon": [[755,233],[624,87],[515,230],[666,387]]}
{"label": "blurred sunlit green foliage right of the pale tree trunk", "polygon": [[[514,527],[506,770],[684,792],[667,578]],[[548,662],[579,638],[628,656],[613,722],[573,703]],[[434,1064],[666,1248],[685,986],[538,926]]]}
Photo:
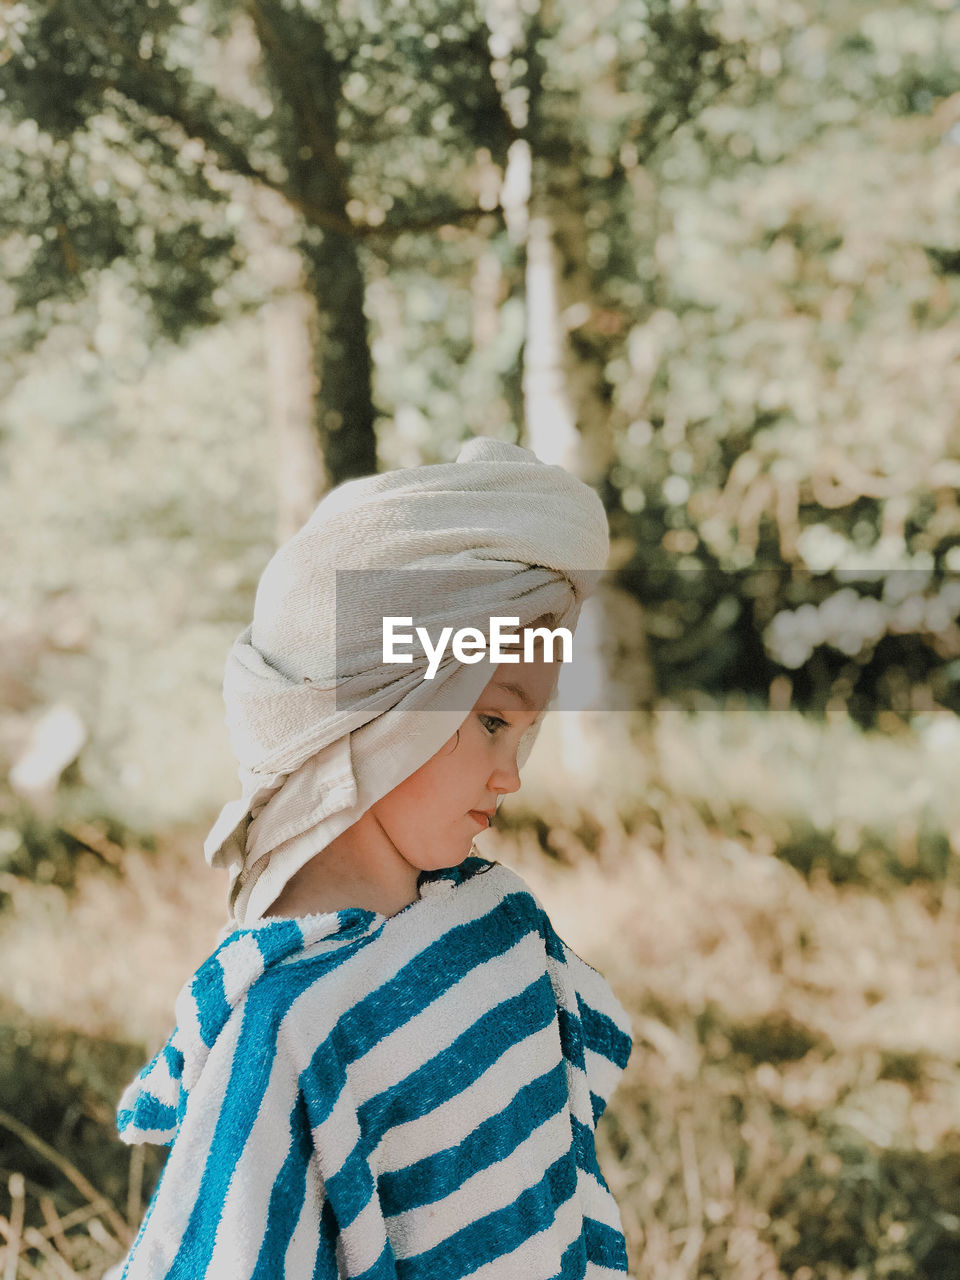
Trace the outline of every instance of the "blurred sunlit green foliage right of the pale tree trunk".
{"label": "blurred sunlit green foliage right of the pale tree trunk", "polygon": [[[604,343],[616,521],[662,687],[797,672],[800,696],[859,690],[870,719],[891,705],[881,667],[923,686],[959,652],[955,100],[933,108],[960,88],[960,23],[897,5],[754,19],[730,91],[643,175],[654,305]],[[883,625],[851,645],[867,613]]]}

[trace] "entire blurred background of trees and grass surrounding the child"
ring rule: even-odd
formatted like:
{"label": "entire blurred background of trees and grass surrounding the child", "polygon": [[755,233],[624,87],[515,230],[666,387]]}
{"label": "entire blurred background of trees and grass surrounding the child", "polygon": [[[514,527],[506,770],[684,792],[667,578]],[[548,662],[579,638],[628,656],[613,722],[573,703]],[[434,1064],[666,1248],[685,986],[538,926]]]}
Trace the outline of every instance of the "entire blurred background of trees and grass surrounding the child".
{"label": "entire blurred background of trees and grass surrounding the child", "polygon": [[634,1016],[635,1275],[960,1276],[957,8],[0,27],[5,1280],[100,1276],[156,1180],[114,1108],[225,918],[260,571],[474,433],[609,512],[631,709],[477,847]]}

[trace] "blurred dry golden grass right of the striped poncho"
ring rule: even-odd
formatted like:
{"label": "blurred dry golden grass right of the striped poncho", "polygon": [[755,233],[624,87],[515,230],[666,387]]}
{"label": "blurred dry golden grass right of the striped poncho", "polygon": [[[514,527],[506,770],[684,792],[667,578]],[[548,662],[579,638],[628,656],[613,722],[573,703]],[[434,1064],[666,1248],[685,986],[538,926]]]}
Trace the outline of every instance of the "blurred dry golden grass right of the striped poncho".
{"label": "blurred dry golden grass right of the striped poncho", "polygon": [[634,1019],[600,1135],[635,1274],[946,1277],[923,1260],[960,1257],[951,922],[673,819],[682,844],[605,873],[518,860]]}

